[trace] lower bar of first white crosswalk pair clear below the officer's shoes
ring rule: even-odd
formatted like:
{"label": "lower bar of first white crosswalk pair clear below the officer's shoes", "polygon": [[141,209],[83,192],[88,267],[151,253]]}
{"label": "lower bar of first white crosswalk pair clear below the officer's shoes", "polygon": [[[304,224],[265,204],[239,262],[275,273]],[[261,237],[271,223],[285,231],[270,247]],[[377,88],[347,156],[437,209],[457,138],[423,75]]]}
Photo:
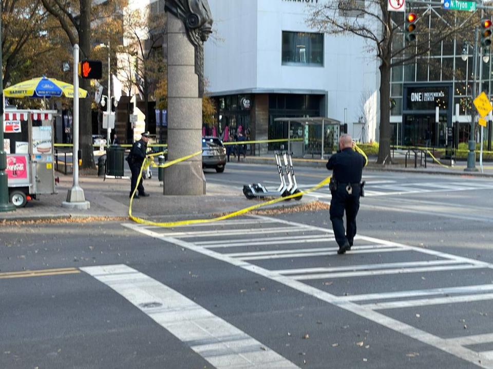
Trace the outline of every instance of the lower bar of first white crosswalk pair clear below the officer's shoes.
{"label": "lower bar of first white crosswalk pair clear below the officer's shoes", "polygon": [[[351,249],[351,253],[352,253],[352,249]],[[249,259],[243,258],[243,260],[249,260]],[[429,272],[443,272],[443,271],[466,270],[466,269],[484,269],[484,267],[481,267],[480,265],[450,265],[446,267],[400,268],[400,269],[384,269],[384,270],[371,270],[371,271],[359,271],[359,272],[308,274],[308,275],[293,276],[293,278],[296,280],[354,278],[354,277],[366,277],[366,276],[377,276],[377,275],[429,273]]]}

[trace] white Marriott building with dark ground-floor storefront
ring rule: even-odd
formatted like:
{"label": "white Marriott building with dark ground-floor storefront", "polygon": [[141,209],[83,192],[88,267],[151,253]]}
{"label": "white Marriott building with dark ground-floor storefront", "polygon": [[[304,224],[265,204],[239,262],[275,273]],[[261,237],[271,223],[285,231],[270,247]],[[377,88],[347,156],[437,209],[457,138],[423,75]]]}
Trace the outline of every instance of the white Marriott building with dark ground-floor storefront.
{"label": "white Marriott building with dark ground-floor storefront", "polygon": [[[287,138],[287,124],[275,118],[321,116],[347,124],[357,140],[378,139],[378,62],[365,52],[362,38],[327,35],[307,25],[318,0],[208,2],[216,33],[205,43],[204,73],[218,106],[214,133],[221,135],[227,126],[248,132],[250,139]],[[304,136],[306,144],[309,135],[305,154],[320,153],[321,127],[310,133],[291,127],[290,134]]]}

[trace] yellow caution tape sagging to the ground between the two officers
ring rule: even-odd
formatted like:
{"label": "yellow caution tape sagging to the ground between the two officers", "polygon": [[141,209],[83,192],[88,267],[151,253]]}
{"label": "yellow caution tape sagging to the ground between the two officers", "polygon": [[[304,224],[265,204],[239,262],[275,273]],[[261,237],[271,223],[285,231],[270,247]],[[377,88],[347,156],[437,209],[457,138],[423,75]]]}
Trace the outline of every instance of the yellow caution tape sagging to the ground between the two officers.
{"label": "yellow caution tape sagging to the ground between the two officers", "polygon": [[[139,177],[137,178],[137,183],[139,183],[140,180],[142,179],[142,171],[143,170],[146,170],[149,166],[158,167],[158,168],[166,168],[166,167],[170,167],[170,166],[172,166],[172,165],[174,165],[174,164],[176,164],[178,162],[181,162],[181,161],[190,159],[190,158],[192,158],[194,156],[200,155],[201,153],[202,153],[202,150],[201,151],[198,151],[198,152],[196,152],[194,154],[181,157],[179,159],[168,161],[167,163],[164,163],[164,164],[161,164],[161,165],[156,164],[154,162],[154,160],[144,160],[144,162],[142,163],[142,167],[140,169]],[[148,156],[149,157],[154,157],[154,156],[160,155],[160,154],[162,154],[162,153],[154,153],[154,154],[151,154],[151,155],[148,155]],[[260,202],[258,204],[255,204],[255,205],[251,206],[251,207],[244,208],[244,209],[241,209],[241,210],[238,210],[238,211],[235,211],[233,213],[229,213],[229,214],[226,214],[226,215],[223,215],[223,216],[220,216],[220,217],[210,218],[210,219],[179,220],[179,221],[174,221],[174,222],[155,222],[155,221],[146,220],[146,219],[139,218],[139,217],[136,217],[136,216],[132,215],[132,202],[134,201],[134,196],[135,196],[135,193],[136,193],[137,187],[138,187],[138,186],[136,186],[135,189],[134,189],[134,192],[132,192],[132,195],[130,196],[130,206],[128,208],[128,216],[130,217],[130,219],[132,219],[133,221],[135,221],[136,223],[139,223],[139,224],[145,224],[146,226],[165,227],[165,228],[178,227],[178,226],[188,226],[189,224],[215,222],[215,221],[218,221],[218,220],[224,220],[224,219],[229,219],[229,218],[237,217],[239,215],[246,214],[246,213],[248,213],[248,212],[250,212],[252,210],[255,210],[255,209],[258,209],[258,208],[267,206],[267,205],[272,205],[272,204],[275,204],[277,202],[289,200],[289,199],[292,199],[292,198],[295,198],[295,197],[298,197],[298,196],[302,196],[302,195],[308,194],[310,192],[313,192],[315,190],[318,190],[321,187],[326,186],[330,182],[330,177],[331,176],[329,176],[329,177],[325,178],[324,180],[320,181],[317,185],[315,185],[314,187],[312,187],[309,190],[300,191],[298,193],[295,193],[295,194],[292,194],[292,195],[288,195],[286,197],[279,197],[279,198],[276,198],[276,199],[273,199],[273,200]]]}

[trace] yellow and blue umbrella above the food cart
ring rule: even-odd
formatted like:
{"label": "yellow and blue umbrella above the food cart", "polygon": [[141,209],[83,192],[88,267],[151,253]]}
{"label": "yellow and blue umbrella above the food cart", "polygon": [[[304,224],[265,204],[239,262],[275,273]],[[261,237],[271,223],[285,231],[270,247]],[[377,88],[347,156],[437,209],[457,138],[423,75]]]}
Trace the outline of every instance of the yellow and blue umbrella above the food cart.
{"label": "yellow and blue umbrella above the food cart", "polygon": [[[55,78],[40,78],[29,79],[20,82],[4,90],[6,97],[60,97],[62,95],[73,98],[73,85]],[[87,96],[87,91],[79,88],[79,97]]]}

